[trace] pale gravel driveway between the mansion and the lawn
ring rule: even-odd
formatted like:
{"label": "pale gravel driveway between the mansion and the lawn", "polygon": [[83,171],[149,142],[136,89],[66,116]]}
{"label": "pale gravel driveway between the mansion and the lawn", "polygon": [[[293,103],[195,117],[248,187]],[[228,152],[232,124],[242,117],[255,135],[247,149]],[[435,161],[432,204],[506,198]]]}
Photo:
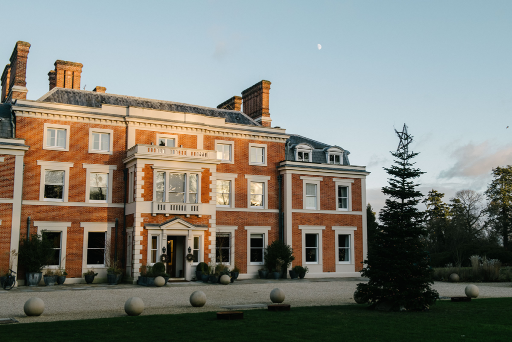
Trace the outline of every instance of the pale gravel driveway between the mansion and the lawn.
{"label": "pale gravel driveway between the mansion and the lawn", "polygon": [[[352,298],[359,282],[365,278],[320,278],[302,280],[237,280],[230,285],[202,283],[174,283],[165,287],[142,287],[136,285],[89,287],[84,284],[61,287],[15,288],[0,291],[2,313],[0,318],[12,317],[21,323],[119,317],[124,313],[124,302],[130,297],[144,301],[142,315],[175,314],[226,310],[222,306],[271,304],[270,291],[279,287],[284,290],[285,304],[292,306],[354,304]],[[433,288],[440,296],[463,296],[466,283],[436,283]],[[512,283],[480,283],[479,298],[512,297]],[[206,294],[206,305],[193,308],[189,296],[194,291]],[[39,297],[45,302],[45,311],[39,317],[27,317],[23,305],[30,297]]]}

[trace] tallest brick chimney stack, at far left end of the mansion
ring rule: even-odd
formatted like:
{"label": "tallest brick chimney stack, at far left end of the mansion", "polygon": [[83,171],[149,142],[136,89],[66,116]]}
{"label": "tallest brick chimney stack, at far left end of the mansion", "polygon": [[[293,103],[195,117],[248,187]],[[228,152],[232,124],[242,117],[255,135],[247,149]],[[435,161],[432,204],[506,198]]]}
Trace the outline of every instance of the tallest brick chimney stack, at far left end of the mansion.
{"label": "tallest brick chimney stack, at far left end of the mansion", "polygon": [[2,102],[27,99],[27,58],[30,44],[18,41],[12,51],[10,64],[2,73]]}

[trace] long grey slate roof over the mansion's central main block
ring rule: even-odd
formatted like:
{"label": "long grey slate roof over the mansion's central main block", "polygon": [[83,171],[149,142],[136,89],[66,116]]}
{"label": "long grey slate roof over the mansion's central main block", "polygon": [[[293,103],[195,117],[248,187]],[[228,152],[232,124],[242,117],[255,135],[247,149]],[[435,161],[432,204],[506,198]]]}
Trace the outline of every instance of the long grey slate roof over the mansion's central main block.
{"label": "long grey slate roof over the mansion's central main block", "polygon": [[224,118],[226,123],[261,127],[260,124],[241,111],[188,105],[179,102],[156,100],[151,98],[98,93],[88,90],[55,87],[42,96],[39,101],[93,108],[101,108],[102,104],[106,104],[113,106],[148,108],[169,112],[202,114],[206,116]]}

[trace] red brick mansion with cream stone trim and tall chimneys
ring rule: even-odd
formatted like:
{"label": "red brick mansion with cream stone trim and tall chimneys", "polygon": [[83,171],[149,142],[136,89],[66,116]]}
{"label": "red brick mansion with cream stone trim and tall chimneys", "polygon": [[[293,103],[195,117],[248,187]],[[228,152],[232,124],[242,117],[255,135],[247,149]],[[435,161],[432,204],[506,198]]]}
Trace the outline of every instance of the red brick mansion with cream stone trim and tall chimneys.
{"label": "red brick mansion with cream stone trim and tall chimneys", "polygon": [[82,64],[58,60],[29,100],[29,48],[16,43],[0,103],[0,269],[20,285],[10,251],[41,232],[66,283],[92,268],[101,281],[113,259],[135,281],[163,249],[175,278],[221,254],[256,277],[276,239],[309,277],[359,275],[369,173],[339,146],[272,127],[270,82],[208,108],[81,90]]}

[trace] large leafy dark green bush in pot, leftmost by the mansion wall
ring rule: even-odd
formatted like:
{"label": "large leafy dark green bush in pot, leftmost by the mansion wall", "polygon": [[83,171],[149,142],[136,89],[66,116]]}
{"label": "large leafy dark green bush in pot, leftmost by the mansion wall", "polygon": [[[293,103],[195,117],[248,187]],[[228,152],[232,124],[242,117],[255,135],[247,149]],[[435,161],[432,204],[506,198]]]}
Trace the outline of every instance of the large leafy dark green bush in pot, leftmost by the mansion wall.
{"label": "large leafy dark green bush in pot, leftmost by the mansion wall", "polygon": [[37,286],[42,277],[42,268],[50,263],[54,255],[53,244],[41,234],[31,234],[19,246],[19,262],[25,266],[28,286]]}

